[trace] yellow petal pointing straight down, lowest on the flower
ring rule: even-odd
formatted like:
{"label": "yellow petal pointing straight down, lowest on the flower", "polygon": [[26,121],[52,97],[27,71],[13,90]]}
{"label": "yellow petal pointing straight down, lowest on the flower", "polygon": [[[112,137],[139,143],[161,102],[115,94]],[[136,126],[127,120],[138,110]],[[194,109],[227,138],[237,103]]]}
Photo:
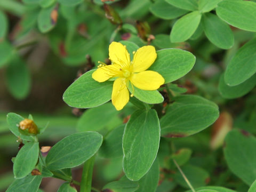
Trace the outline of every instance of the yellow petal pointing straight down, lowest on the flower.
{"label": "yellow petal pointing straight down, lowest on the flower", "polygon": [[116,110],[121,110],[129,101],[129,91],[126,87],[125,78],[117,78],[113,84],[112,103]]}

